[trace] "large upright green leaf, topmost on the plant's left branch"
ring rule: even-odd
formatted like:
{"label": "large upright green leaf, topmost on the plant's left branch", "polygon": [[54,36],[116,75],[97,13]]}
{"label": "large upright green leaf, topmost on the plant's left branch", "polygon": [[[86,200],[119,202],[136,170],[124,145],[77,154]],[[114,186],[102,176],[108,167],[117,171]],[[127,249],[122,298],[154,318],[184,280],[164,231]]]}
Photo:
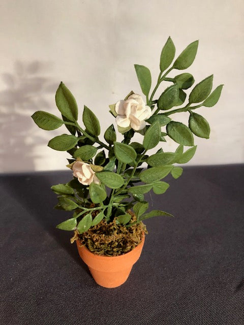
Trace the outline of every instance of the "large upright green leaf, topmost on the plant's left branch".
{"label": "large upright green leaf, topmost on the plant's left branch", "polygon": [[64,115],[71,121],[77,121],[78,108],[76,100],[63,82],[61,82],[57,88],[55,101],[57,108],[62,115]]}

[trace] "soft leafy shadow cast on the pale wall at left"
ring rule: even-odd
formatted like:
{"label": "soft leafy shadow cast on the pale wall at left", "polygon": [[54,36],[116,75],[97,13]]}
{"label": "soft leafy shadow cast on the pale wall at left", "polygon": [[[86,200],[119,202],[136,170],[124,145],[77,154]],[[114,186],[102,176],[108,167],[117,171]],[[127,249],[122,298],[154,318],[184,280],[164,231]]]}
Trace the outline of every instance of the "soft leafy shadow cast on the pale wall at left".
{"label": "soft leafy shadow cast on the pale wall at left", "polygon": [[[49,93],[57,88],[50,78],[50,63],[17,61],[13,73],[4,73],[5,90],[0,90],[0,172],[33,171],[36,145],[46,143],[33,136],[31,115],[47,110]],[[16,163],[17,161],[17,163]]]}

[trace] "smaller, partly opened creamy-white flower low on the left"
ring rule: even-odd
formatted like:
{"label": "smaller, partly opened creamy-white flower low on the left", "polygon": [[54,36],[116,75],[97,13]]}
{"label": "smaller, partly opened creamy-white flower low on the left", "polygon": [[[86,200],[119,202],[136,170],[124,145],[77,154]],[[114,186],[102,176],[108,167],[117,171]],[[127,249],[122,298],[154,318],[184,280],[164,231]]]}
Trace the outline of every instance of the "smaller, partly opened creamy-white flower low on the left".
{"label": "smaller, partly opened creamy-white flower low on the left", "polygon": [[96,184],[100,183],[90,165],[83,161],[76,161],[72,166],[72,170],[74,172],[73,175],[77,177],[78,181],[83,185],[90,185],[92,182]]}

